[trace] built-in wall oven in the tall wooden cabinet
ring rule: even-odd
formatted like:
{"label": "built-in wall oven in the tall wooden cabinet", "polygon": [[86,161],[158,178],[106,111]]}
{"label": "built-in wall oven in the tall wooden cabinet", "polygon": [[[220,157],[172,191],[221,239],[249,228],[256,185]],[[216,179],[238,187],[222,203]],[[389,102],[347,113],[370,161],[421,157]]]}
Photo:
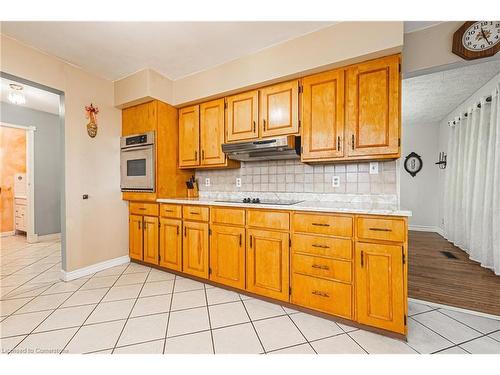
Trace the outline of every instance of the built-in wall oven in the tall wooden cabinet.
{"label": "built-in wall oven in the tall wooden cabinet", "polygon": [[155,191],[155,133],[120,139],[122,191]]}

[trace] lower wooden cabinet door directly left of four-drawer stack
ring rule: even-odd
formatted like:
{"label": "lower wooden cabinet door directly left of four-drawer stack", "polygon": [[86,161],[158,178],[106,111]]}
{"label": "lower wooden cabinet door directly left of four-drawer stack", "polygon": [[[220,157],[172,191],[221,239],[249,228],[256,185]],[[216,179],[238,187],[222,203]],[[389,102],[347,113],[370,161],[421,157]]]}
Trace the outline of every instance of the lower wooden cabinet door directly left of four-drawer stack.
{"label": "lower wooden cabinet door directly left of four-drawer stack", "polygon": [[247,290],[288,301],[288,233],[248,230]]}

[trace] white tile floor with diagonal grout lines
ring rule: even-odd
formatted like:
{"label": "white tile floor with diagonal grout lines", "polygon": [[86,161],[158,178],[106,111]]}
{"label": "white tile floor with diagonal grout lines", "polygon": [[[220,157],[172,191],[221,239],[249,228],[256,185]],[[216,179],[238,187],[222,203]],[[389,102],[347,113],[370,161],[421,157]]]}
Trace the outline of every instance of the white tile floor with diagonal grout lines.
{"label": "white tile floor with diagonal grout lines", "polygon": [[138,264],[59,280],[60,243],[2,238],[2,353],[497,353],[500,321],[410,302],[393,340]]}

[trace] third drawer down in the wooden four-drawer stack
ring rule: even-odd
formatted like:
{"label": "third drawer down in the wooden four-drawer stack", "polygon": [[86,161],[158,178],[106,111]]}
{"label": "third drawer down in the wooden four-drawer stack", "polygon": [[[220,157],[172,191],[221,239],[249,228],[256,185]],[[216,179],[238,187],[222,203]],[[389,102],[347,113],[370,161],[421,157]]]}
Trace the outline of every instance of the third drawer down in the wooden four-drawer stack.
{"label": "third drawer down in the wooden four-drawer stack", "polygon": [[352,282],[352,264],[346,260],[293,254],[292,272],[310,276],[320,276],[346,283]]}

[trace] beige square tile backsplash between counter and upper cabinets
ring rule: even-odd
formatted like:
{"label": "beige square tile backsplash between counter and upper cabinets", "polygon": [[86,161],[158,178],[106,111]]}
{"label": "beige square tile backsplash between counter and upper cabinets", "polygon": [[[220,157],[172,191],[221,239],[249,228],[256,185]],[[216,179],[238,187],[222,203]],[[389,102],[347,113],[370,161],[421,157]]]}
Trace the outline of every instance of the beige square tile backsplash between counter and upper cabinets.
{"label": "beige square tile backsplash between counter and upper cabinets", "polygon": [[[370,163],[308,165],[298,160],[242,162],[240,169],[197,170],[201,195],[212,192],[388,195],[397,197],[396,162],[379,162],[378,174],[369,173]],[[340,186],[333,187],[338,176]],[[205,186],[205,179],[210,186]],[[241,178],[241,187],[236,186]],[[253,194],[255,195],[255,194]]]}

